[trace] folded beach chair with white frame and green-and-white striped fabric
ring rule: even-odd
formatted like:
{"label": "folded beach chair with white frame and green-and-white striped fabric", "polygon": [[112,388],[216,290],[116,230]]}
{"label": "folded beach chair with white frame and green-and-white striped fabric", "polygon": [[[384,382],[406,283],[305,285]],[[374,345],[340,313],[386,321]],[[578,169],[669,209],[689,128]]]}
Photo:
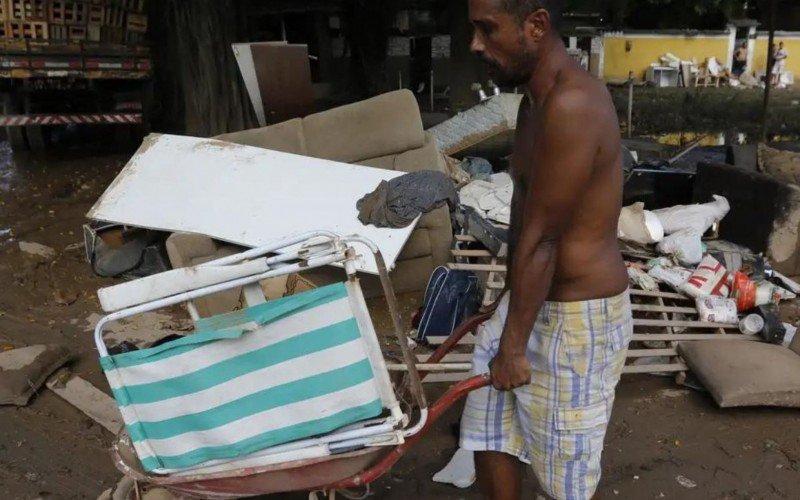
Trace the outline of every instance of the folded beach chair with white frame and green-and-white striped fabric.
{"label": "folded beach chair with white frame and green-and-white striped fabric", "polygon": [[[263,294],[252,299],[259,281],[300,269],[339,263],[355,276],[352,252],[336,238],[316,240],[313,253],[306,246],[267,256],[297,242],[98,292],[111,313],[95,330],[100,364],[144,471],[262,466],[393,446],[415,432],[405,428],[409,417],[389,380],[358,280],[268,302]],[[242,286],[255,302],[242,310],[208,318],[193,313],[189,335],[108,353],[103,331],[110,322]]]}

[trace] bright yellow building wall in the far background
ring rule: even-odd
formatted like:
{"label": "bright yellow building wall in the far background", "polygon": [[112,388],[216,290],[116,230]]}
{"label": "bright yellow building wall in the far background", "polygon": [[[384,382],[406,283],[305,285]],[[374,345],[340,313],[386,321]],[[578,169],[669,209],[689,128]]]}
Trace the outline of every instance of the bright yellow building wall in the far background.
{"label": "bright yellow building wall in the far background", "polygon": [[[644,80],[648,68],[671,53],[684,61],[702,65],[710,57],[731,68],[733,53],[742,40],[731,26],[723,31],[616,31],[592,40],[591,69],[606,81],[624,81],[629,75]],[[741,34],[741,32],[740,32]],[[768,33],[751,28],[747,37],[747,71],[764,73],[767,65]],[[783,41],[789,52],[786,71],[800,77],[800,32],[778,32],[775,41]],[[800,84],[800,82],[798,82]]]}

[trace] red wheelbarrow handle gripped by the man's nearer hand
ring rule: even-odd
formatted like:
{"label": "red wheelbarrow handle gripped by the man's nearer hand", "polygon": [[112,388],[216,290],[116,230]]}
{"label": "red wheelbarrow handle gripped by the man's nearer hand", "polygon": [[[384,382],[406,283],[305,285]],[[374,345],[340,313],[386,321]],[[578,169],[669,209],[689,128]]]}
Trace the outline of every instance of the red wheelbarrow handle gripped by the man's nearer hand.
{"label": "red wheelbarrow handle gripped by the man's nearer hand", "polygon": [[355,476],[351,476],[343,481],[339,481],[337,483],[330,484],[326,486],[324,489],[326,490],[343,490],[347,488],[356,488],[359,486],[364,486],[365,484],[370,484],[382,475],[384,475],[389,469],[400,460],[400,457],[406,454],[406,452],[417,442],[419,441],[422,436],[431,428],[433,424],[439,419],[439,417],[444,414],[448,409],[450,409],[453,404],[458,401],[459,399],[466,396],[471,391],[476,389],[480,389],[481,387],[486,387],[489,385],[489,375],[477,375],[472,378],[468,378],[467,380],[463,380],[458,384],[450,387],[450,389],[445,392],[442,397],[436,400],[429,408],[428,408],[428,421],[425,423],[425,426],[415,435],[406,439],[406,441],[397,446],[391,452],[389,452],[386,456],[384,456],[379,462],[375,465],[370,467],[369,469],[361,472],[360,474],[356,474]]}

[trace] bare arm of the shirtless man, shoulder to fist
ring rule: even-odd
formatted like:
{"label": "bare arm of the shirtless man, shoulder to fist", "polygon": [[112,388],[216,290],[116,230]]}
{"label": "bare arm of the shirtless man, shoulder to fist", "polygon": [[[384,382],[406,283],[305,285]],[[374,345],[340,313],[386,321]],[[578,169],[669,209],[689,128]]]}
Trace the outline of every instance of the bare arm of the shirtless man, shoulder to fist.
{"label": "bare arm of the shirtless man, shoulder to fist", "polygon": [[535,166],[528,182],[522,229],[510,262],[511,302],[492,385],[509,390],[530,383],[525,358],[531,331],[550,291],[559,240],[586,191],[598,148],[596,105],[584,92],[553,96],[542,112]]}

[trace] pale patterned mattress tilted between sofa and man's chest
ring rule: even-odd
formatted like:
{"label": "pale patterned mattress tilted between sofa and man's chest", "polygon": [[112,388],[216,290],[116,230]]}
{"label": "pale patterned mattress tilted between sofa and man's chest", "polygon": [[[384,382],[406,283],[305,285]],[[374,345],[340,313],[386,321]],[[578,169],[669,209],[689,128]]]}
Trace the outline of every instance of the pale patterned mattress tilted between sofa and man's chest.
{"label": "pale patterned mattress tilted between sofa and man's chest", "polygon": [[500,94],[428,129],[439,151],[454,155],[490,137],[517,128],[522,94]]}

